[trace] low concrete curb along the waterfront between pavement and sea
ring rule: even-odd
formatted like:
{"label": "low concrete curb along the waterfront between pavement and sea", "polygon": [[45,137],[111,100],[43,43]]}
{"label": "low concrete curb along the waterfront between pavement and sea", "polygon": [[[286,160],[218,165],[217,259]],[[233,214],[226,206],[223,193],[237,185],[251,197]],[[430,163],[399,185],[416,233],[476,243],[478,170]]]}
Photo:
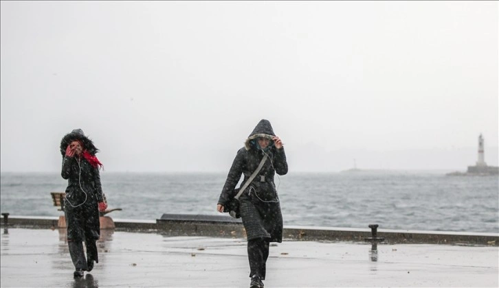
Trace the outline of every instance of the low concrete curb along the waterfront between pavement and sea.
{"label": "low concrete curb along the waterfront between pavement and sea", "polygon": [[[115,230],[152,232],[171,236],[245,237],[243,224],[228,216],[167,215],[156,221],[114,219]],[[173,217],[170,217],[173,216]],[[228,219],[229,218],[229,219]],[[50,228],[58,225],[58,217],[10,216],[3,228]],[[367,226],[367,225],[366,225]],[[499,234],[480,232],[448,232],[420,230],[377,230],[381,243],[418,243],[450,245],[499,245]],[[285,226],[283,237],[287,241],[358,241],[372,237],[368,228],[334,228],[311,226]]]}

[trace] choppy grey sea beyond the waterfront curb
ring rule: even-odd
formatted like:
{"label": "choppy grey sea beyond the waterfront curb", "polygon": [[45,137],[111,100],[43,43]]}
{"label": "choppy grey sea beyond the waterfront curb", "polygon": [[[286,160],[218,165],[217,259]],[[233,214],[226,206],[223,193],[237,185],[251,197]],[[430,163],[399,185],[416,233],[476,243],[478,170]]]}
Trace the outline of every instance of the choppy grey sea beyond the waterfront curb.
{"label": "choppy grey sea beyond the waterfront curb", "polygon": [[[227,173],[101,172],[113,219],[155,220],[164,213],[219,215]],[[1,172],[1,213],[62,215],[50,192],[59,173]],[[285,226],[499,232],[499,177],[435,171],[346,171],[276,176]],[[238,185],[239,186],[239,185]],[[227,215],[227,214],[225,214]]]}

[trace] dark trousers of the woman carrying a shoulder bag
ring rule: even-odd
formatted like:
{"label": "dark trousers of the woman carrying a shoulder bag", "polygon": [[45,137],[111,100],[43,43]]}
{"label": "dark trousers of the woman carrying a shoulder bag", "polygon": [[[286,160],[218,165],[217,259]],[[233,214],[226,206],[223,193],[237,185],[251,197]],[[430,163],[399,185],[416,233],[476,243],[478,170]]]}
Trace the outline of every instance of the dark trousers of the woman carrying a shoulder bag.
{"label": "dark trousers of the woman carrying a shoulder bag", "polygon": [[267,258],[269,258],[269,238],[257,238],[247,241],[247,258],[249,260],[249,277],[255,274],[265,280]]}

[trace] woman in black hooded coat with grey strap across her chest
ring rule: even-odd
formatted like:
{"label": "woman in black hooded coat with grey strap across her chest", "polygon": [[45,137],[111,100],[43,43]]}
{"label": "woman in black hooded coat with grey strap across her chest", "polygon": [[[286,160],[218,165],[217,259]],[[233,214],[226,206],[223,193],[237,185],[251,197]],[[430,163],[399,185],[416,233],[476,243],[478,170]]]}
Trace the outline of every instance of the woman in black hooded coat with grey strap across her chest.
{"label": "woman in black hooded coat with grey strap across her chest", "polygon": [[269,243],[282,242],[282,215],[274,175],[287,173],[287,161],[282,141],[274,134],[268,120],[263,119],[256,125],[246,139],[245,147],[237,152],[217,205],[217,211],[223,212],[224,206],[235,196],[234,189],[241,174],[244,174],[243,186],[265,154],[267,160],[263,167],[239,197],[252,288],[263,287]]}

